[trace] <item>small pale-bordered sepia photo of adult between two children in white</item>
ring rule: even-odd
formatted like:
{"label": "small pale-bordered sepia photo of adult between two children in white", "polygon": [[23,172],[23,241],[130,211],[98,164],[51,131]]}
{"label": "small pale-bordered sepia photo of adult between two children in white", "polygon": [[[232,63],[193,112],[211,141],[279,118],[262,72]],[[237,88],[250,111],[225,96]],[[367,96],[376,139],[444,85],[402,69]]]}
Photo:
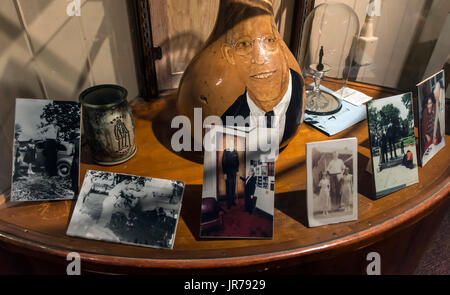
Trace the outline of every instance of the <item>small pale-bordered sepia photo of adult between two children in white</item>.
{"label": "small pale-bordered sepia photo of adult between two children in white", "polygon": [[358,218],[357,139],[306,144],[309,226]]}

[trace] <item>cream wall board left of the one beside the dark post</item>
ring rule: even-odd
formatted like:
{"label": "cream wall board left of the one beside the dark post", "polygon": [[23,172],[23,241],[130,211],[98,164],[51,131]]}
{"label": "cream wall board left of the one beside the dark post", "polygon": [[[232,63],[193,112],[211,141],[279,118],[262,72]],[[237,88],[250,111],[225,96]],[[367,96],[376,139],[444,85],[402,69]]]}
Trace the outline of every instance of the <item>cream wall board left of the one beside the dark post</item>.
{"label": "cream wall board left of the one beside the dark post", "polygon": [[44,82],[45,97],[76,100],[77,92],[89,86],[87,81],[77,85],[86,59],[79,17],[66,14],[67,2],[17,2],[19,17],[31,39],[33,59]]}

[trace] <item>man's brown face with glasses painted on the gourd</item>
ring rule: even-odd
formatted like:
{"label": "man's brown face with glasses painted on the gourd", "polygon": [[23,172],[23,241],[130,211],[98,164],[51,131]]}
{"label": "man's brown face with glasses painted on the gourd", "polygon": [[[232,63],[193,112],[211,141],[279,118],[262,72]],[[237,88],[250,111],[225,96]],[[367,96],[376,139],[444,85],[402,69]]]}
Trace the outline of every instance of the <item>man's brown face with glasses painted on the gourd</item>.
{"label": "man's brown face with glasses painted on the gourd", "polygon": [[235,66],[250,98],[258,106],[275,106],[288,87],[289,69],[270,16],[244,20],[228,36],[231,44],[224,47],[225,57]]}

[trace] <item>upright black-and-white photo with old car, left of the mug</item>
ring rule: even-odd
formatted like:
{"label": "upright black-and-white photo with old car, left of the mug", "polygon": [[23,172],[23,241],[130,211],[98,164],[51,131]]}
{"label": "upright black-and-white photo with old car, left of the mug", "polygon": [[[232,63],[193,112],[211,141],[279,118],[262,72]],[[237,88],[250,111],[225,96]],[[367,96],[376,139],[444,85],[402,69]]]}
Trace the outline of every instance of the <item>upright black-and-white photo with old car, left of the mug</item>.
{"label": "upright black-and-white photo with old car, left of the mug", "polygon": [[76,197],[80,114],[77,102],[16,99],[11,201]]}

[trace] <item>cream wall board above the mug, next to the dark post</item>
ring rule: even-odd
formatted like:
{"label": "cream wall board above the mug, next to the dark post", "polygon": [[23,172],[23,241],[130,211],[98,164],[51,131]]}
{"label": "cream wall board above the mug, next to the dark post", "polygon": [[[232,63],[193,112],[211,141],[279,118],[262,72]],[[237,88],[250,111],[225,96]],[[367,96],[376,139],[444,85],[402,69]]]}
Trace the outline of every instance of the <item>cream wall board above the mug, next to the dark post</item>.
{"label": "cream wall board above the mug, next to the dark post", "polygon": [[128,1],[86,1],[80,25],[93,83],[123,85],[131,100],[139,96],[139,85]]}

